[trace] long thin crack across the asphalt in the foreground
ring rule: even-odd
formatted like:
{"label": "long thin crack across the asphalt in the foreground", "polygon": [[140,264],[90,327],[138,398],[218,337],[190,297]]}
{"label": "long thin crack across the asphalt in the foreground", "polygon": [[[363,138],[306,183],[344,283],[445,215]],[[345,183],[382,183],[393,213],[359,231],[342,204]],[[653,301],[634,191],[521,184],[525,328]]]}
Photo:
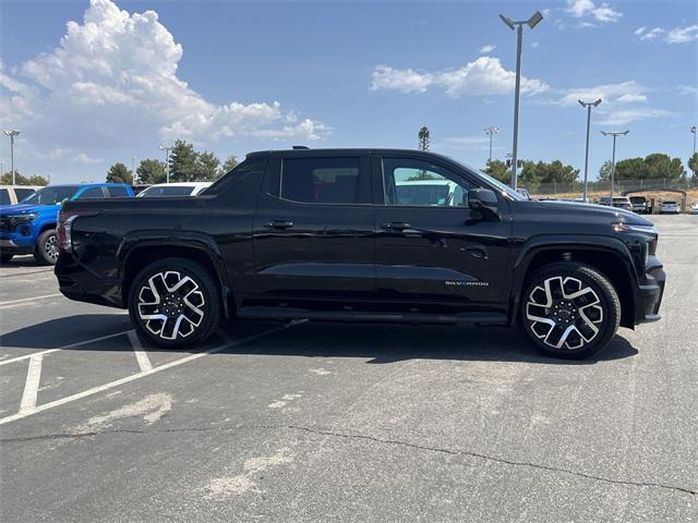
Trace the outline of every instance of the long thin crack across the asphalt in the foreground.
{"label": "long thin crack across the asphalt in the foreground", "polygon": [[370,435],[358,433],[358,431],[337,431],[337,430],[330,430],[326,428],[306,427],[302,425],[263,425],[261,424],[261,425],[234,425],[234,426],[213,426],[213,427],[179,427],[179,428],[160,428],[160,429],[116,428],[116,429],[82,431],[82,433],[59,433],[59,434],[26,436],[26,437],[19,437],[19,438],[2,438],[0,439],[0,443],[20,443],[20,442],[52,440],[52,439],[79,439],[79,438],[107,436],[107,435],[113,435],[113,434],[152,435],[152,434],[170,434],[170,433],[206,433],[206,431],[231,431],[231,430],[254,430],[254,429],[262,429],[262,430],[290,429],[290,430],[311,433],[311,434],[321,435],[321,436],[329,436],[335,438],[361,439],[361,440],[373,441],[382,445],[407,447],[410,449],[421,450],[426,452],[437,452],[437,453],[449,454],[449,455],[469,457],[469,458],[474,458],[474,459],[489,461],[493,463],[500,463],[508,466],[520,466],[520,467],[535,469],[540,471],[555,472],[561,474],[569,474],[573,476],[583,477],[586,479],[607,483],[612,485],[661,488],[664,490],[673,490],[677,492],[688,494],[690,496],[696,496],[698,494],[698,491],[694,489],[678,487],[675,485],[665,485],[665,484],[653,483],[653,482],[633,482],[629,479],[613,479],[610,477],[598,476],[594,474],[574,471],[571,469],[564,469],[564,467],[545,465],[542,463],[533,463],[528,461],[508,460],[505,458],[497,458],[494,455],[483,454],[480,452],[473,452],[468,450],[433,447],[433,446],[413,443],[410,441],[402,441],[399,439],[380,438],[377,436],[370,436]]}

